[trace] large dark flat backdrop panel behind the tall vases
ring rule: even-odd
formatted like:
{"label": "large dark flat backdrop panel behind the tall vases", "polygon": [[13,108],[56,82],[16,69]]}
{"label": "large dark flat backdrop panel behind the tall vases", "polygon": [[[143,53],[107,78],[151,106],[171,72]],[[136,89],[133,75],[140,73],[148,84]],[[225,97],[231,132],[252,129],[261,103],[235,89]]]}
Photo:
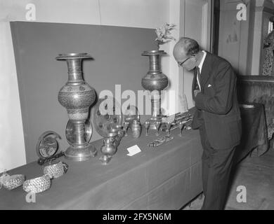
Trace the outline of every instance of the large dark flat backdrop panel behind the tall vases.
{"label": "large dark flat backdrop panel behind the tall vases", "polygon": [[[47,130],[60,134],[62,150],[68,146],[67,111],[57,98],[67,81],[67,64],[55,59],[59,53],[88,52],[93,60],[83,63],[86,82],[97,94],[102,90],[115,94],[115,84],[122,85],[122,92],[143,90],[141,78],[148,71],[148,57],[141,53],[156,49],[153,29],[11,22],[11,31],[27,162],[37,160],[35,146]],[[91,141],[100,138],[93,127]]]}

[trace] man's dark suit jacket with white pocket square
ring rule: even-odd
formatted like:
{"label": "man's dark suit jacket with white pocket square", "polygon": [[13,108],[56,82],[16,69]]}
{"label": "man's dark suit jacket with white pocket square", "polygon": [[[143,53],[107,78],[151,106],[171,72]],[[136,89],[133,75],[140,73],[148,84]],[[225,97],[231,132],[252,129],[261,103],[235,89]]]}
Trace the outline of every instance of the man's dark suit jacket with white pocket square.
{"label": "man's dark suit jacket with white pocket square", "polygon": [[240,144],[242,124],[237,102],[237,77],[225,59],[207,52],[201,72],[201,92],[194,97],[197,73],[193,78],[193,99],[197,111],[193,129],[203,123],[211,147],[232,148]]}

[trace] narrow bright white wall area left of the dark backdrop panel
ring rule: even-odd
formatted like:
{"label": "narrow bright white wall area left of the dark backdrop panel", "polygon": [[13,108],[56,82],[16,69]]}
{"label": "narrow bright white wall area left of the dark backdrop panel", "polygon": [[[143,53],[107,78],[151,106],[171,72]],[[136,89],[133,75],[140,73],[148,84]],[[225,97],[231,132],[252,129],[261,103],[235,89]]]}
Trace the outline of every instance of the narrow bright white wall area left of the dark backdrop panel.
{"label": "narrow bright white wall area left of the dark backdrop panel", "polygon": [[0,22],[0,173],[25,164],[18,81],[7,22]]}

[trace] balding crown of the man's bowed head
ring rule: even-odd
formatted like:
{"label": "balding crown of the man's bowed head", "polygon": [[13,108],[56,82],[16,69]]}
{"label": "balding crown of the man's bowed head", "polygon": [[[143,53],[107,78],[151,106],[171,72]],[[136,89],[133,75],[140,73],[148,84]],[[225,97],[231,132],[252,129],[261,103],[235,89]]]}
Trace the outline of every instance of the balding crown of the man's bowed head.
{"label": "balding crown of the man's bowed head", "polygon": [[180,58],[195,55],[197,52],[200,52],[200,46],[197,41],[191,38],[181,37],[174,46],[173,55],[175,58]]}

